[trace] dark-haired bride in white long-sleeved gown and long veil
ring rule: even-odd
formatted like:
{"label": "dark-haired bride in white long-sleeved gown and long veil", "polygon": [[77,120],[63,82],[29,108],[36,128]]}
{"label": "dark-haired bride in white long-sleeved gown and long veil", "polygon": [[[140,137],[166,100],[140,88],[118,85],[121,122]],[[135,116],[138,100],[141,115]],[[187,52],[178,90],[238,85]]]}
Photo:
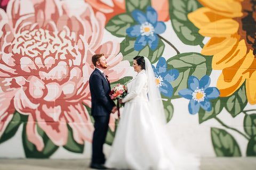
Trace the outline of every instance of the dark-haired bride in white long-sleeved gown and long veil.
{"label": "dark-haired bride in white long-sleeved gown and long veil", "polygon": [[105,166],[115,169],[199,169],[199,160],[175,150],[165,130],[161,94],[148,58],[133,58],[123,114]]}

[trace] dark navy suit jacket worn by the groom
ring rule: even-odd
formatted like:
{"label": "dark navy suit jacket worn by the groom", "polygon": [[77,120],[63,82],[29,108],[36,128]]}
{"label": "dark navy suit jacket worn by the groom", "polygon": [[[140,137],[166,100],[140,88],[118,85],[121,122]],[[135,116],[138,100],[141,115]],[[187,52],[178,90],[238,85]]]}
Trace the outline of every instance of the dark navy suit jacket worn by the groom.
{"label": "dark navy suit jacket worn by the groom", "polygon": [[108,116],[115,106],[109,96],[110,83],[98,69],[95,69],[90,76],[89,84],[92,97],[92,116]]}

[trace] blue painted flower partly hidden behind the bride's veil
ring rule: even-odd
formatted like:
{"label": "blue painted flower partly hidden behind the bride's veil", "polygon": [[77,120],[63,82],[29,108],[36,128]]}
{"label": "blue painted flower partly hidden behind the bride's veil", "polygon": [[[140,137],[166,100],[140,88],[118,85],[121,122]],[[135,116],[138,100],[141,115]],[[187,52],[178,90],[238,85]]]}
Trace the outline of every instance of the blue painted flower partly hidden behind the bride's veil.
{"label": "blue painted flower partly hidden behind the bride's veil", "polygon": [[156,67],[152,65],[156,76],[157,87],[160,92],[167,97],[172,97],[173,87],[170,82],[176,80],[179,77],[179,71],[177,69],[171,69],[167,71],[167,64],[164,57],[160,57]]}

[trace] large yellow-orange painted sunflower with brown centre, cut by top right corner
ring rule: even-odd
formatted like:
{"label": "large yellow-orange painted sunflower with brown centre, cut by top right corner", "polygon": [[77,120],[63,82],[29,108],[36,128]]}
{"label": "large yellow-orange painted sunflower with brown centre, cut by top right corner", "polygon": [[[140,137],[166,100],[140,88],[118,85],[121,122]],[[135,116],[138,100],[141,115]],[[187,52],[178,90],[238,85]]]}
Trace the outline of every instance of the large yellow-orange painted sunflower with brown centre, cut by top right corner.
{"label": "large yellow-orange painted sunflower with brown centre, cut by top right corner", "polygon": [[256,104],[256,3],[251,0],[198,0],[204,7],[188,18],[199,33],[211,37],[202,49],[213,55],[212,69],[222,70],[220,97],[232,95],[246,83],[250,104]]}

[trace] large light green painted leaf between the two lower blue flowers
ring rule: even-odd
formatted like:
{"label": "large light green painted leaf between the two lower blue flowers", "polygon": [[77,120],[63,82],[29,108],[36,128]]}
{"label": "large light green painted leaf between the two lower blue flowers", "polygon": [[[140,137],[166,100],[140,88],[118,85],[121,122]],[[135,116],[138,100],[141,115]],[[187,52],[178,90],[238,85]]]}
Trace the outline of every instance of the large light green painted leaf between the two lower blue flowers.
{"label": "large light green painted leaf between the two lower blue flowers", "polygon": [[180,98],[178,92],[188,88],[188,78],[194,75],[199,80],[204,75],[212,72],[212,56],[204,56],[200,53],[182,53],[171,57],[166,61],[167,70],[177,69],[179,77],[172,81],[173,95],[171,98]]}

